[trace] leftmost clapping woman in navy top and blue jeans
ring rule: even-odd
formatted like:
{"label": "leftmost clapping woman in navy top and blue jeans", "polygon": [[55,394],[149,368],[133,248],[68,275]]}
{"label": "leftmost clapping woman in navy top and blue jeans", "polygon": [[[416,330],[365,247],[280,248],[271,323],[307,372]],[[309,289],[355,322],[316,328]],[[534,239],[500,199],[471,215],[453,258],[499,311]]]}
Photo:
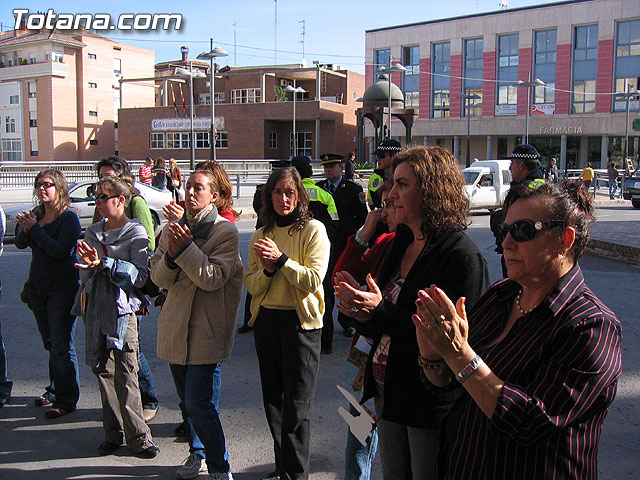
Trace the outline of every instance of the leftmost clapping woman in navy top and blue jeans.
{"label": "leftmost clapping woman in navy top and blue jeans", "polygon": [[20,249],[31,247],[28,305],[49,351],[50,383],[35,404],[51,406],[46,418],[58,418],[73,412],[80,396],[73,340],[76,317],[70,312],[78,290],[73,264],[81,229],[78,215],[69,208],[69,187],[60,171],[42,170],[33,187],[37,205],[16,216],[15,244]]}

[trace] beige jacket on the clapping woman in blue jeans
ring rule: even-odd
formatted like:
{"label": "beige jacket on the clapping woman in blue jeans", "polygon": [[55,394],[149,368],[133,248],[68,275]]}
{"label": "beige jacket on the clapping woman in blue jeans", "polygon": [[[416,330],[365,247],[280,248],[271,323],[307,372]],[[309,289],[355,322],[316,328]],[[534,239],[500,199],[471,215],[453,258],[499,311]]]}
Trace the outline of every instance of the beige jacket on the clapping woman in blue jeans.
{"label": "beige jacket on the clapping woman in blue jeans", "polygon": [[242,296],[238,230],[214,208],[173,261],[165,253],[167,231],[168,225],[151,257],[151,278],[168,290],[158,317],[158,357],[178,365],[222,362],[231,354]]}

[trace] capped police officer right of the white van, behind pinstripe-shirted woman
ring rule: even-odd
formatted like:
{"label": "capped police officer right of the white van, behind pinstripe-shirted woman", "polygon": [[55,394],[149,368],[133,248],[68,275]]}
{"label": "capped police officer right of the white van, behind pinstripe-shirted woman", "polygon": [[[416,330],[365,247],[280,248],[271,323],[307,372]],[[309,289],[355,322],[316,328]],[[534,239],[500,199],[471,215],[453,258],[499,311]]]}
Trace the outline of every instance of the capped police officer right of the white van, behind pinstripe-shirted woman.
{"label": "capped police officer right of the white van, behind pinstripe-shirted woman", "polygon": [[[540,154],[533,145],[516,145],[511,152],[511,186],[526,185],[530,188],[538,188],[544,185],[544,173],[540,168]],[[502,241],[504,238],[499,233],[500,224],[503,222],[502,209],[491,214],[490,226],[493,235],[496,237],[496,252],[502,255]],[[501,258],[502,274],[507,276],[507,267],[504,263],[504,256]]]}

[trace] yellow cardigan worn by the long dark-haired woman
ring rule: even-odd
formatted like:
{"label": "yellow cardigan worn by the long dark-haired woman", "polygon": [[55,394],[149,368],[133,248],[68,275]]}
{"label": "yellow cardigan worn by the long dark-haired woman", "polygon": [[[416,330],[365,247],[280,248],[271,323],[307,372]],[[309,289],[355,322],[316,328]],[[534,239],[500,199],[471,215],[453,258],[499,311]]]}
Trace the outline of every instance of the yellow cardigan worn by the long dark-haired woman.
{"label": "yellow cardigan worn by the long dark-haired woman", "polygon": [[[249,325],[253,326],[260,312],[260,305],[268,295],[270,304],[278,304],[279,299],[283,300],[281,303],[284,305],[291,305],[293,301],[304,330],[322,328],[322,281],[327,273],[331,250],[327,232],[317,220],[310,220],[302,230],[292,235],[286,233],[288,230],[289,227],[275,227],[265,235],[261,228],[251,237],[244,277],[247,290],[253,296]],[[277,237],[280,240],[280,243],[276,242],[278,249],[289,257],[273,277],[264,274],[264,267],[253,252],[253,244],[264,237]],[[282,238],[285,238],[284,242]],[[279,275],[283,275],[286,282],[274,282]]]}

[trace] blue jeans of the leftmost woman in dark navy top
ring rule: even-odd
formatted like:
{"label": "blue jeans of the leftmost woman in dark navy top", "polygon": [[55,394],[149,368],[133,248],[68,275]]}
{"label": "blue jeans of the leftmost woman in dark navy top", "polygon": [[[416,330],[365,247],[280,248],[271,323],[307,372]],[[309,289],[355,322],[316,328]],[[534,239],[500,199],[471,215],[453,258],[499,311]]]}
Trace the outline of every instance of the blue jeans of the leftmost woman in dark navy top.
{"label": "blue jeans of the leftmost woman in dark navy top", "polygon": [[76,317],[71,306],[78,285],[37,287],[29,284],[29,305],[36,317],[45,350],[49,351],[47,396],[54,408],[68,412],[76,409],[80,396],[78,357],[73,341]]}

